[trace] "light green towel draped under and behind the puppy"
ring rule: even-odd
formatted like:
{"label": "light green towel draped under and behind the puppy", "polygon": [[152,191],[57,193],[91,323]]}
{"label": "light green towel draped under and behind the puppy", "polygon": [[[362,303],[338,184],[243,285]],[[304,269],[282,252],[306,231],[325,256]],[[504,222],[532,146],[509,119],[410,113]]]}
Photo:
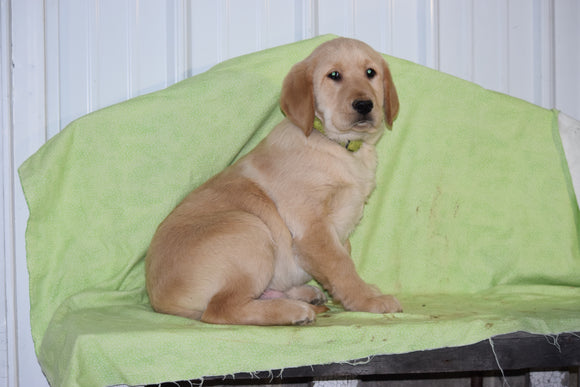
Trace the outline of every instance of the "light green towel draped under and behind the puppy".
{"label": "light green towel draped under and behind the puppy", "polygon": [[401,110],[352,255],[405,312],[333,306],[311,326],[244,327],[151,310],[143,259],[157,225],[282,120],[284,76],[331,38],[89,114],[21,166],[32,335],[50,383],[155,383],[580,329],[580,216],[558,113],[393,57]]}

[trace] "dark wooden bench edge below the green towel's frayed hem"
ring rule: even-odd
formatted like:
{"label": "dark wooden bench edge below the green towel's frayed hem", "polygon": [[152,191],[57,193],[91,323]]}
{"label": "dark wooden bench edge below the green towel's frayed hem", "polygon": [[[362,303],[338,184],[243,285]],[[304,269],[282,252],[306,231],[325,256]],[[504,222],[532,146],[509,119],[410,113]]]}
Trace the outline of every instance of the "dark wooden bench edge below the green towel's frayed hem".
{"label": "dark wooden bench edge below the green towel's frayed hem", "polygon": [[[377,355],[346,363],[312,365],[283,370],[207,376],[204,385],[268,384],[305,379],[358,379],[367,376],[465,374],[472,385],[480,385],[477,375],[519,370],[557,370],[580,367],[580,332],[536,335],[516,332],[495,336],[472,345],[438,348],[404,354]],[[475,375],[475,376],[474,376]],[[212,383],[213,382],[213,383]],[[184,385],[199,385],[188,381]],[[169,385],[169,384],[168,384]],[[175,386],[173,382],[171,385]]]}

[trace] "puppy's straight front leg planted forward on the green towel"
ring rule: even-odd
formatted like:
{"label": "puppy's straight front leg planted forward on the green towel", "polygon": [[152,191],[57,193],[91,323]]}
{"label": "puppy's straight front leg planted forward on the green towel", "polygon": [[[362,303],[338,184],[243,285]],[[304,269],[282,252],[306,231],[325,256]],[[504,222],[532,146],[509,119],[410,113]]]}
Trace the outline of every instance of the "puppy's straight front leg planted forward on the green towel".
{"label": "puppy's straight front leg planted forward on the green towel", "polygon": [[345,309],[371,313],[401,312],[399,301],[364,282],[350,257],[350,243],[342,244],[329,227],[313,228],[295,240],[304,269]]}

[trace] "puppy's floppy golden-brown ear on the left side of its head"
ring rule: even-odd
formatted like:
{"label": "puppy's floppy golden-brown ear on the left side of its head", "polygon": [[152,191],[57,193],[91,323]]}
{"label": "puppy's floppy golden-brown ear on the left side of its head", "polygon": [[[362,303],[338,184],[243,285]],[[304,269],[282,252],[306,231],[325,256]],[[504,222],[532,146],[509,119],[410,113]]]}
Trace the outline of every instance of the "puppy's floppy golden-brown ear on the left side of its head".
{"label": "puppy's floppy golden-brown ear on the left side of its head", "polygon": [[314,123],[314,92],[307,62],[295,64],[284,79],[280,107],[294,125],[302,129],[306,136],[310,135]]}

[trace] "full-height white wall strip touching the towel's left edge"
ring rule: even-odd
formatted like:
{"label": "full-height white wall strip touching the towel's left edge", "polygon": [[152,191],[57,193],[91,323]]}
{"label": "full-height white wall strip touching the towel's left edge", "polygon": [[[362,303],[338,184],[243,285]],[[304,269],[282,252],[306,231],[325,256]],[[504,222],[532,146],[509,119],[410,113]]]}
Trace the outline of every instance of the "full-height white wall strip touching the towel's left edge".
{"label": "full-height white wall strip touching the towel's left edge", "polygon": [[[10,353],[9,377],[20,386],[47,385],[36,360],[30,335],[30,301],[28,297],[28,271],[24,232],[28,209],[18,183],[17,168],[45,141],[45,40],[44,4],[36,0],[11,2],[12,15],[12,126],[2,128],[2,141],[11,130],[10,159],[12,170],[12,207],[10,226],[13,227],[11,256],[2,257],[12,278],[12,288],[7,291]],[[3,176],[4,177],[4,176]],[[10,280],[10,277],[7,277]],[[8,290],[8,289],[7,289]],[[4,301],[4,300],[3,300]]]}

